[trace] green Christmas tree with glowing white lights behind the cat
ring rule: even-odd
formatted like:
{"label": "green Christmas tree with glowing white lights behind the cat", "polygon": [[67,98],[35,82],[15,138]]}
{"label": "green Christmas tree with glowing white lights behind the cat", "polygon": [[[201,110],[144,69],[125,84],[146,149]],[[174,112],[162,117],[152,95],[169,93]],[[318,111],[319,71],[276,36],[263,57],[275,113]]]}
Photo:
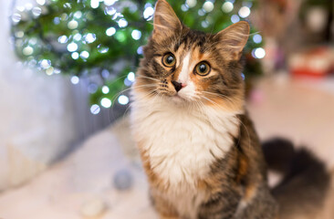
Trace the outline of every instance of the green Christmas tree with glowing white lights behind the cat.
{"label": "green Christmas tree with glowing white lights behind the cat", "polygon": [[[252,0],[169,1],[186,26],[215,33],[247,19]],[[47,75],[71,76],[77,84],[89,78],[92,113],[110,108],[127,92],[152,30],[153,0],[37,0],[16,6],[12,36],[17,57]],[[265,56],[262,37],[252,28],[245,47],[245,76],[261,74],[258,59]]]}

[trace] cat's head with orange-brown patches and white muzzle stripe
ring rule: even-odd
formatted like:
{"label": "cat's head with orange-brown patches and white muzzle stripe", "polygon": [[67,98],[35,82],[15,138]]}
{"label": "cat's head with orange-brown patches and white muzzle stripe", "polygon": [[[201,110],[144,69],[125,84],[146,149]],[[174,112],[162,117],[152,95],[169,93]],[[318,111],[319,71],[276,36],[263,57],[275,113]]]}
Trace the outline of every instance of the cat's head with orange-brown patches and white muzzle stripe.
{"label": "cat's head with orange-brown patches and white muzzle stripe", "polygon": [[176,105],[204,104],[229,111],[243,108],[240,57],[249,35],[247,22],[205,34],[184,26],[172,6],[158,0],[153,23],[137,72],[136,92]]}

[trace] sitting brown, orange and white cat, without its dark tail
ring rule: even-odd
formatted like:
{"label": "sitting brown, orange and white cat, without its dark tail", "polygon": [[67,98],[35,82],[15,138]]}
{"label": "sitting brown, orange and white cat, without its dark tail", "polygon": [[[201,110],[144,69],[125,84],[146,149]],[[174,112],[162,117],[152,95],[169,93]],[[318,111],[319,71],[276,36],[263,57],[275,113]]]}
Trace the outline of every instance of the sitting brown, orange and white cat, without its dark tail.
{"label": "sitting brown, orange and white cat, without its dark tail", "polygon": [[153,26],[131,89],[130,118],[156,211],[161,218],[277,219],[261,143],[245,110],[240,59],[248,23],[205,34],[158,0]]}

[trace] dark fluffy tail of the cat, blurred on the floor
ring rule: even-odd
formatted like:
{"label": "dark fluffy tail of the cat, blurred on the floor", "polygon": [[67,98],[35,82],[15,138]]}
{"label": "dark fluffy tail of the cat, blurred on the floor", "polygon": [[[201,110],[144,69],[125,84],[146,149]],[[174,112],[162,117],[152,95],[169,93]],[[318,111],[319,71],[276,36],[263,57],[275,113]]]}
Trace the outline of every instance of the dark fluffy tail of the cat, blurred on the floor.
{"label": "dark fluffy tail of the cat, blurred on the floor", "polygon": [[295,149],[290,141],[274,139],[263,144],[268,169],[284,174],[272,189],[280,205],[281,219],[314,218],[329,191],[325,164],[311,152]]}

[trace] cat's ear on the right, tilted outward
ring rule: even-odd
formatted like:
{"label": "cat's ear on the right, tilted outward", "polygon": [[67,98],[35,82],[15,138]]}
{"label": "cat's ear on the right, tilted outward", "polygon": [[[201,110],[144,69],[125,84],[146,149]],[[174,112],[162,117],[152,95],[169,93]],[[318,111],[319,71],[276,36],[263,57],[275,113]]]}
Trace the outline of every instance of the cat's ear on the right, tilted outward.
{"label": "cat's ear on the right, tilted outward", "polygon": [[249,24],[240,21],[232,26],[224,28],[216,34],[219,48],[224,51],[224,57],[230,60],[239,60],[249,36]]}

